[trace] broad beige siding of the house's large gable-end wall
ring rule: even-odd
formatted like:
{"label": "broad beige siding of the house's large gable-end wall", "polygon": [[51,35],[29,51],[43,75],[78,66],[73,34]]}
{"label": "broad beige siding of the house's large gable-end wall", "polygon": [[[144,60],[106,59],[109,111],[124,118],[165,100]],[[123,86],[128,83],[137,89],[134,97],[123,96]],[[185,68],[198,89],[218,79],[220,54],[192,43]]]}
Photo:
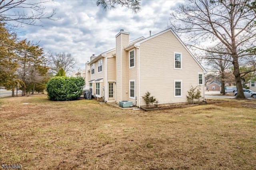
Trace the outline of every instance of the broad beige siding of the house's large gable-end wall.
{"label": "broad beige siding of the house's large gable-end wall", "polygon": [[[174,69],[174,52],[182,53],[182,69]],[[140,105],[145,105],[142,96],[147,91],[159,104],[186,102],[187,92],[191,85],[198,86],[198,73],[202,72],[202,68],[170,31],[141,43]],[[182,97],[174,97],[174,80],[182,80]],[[204,96],[204,86],[198,87]]]}

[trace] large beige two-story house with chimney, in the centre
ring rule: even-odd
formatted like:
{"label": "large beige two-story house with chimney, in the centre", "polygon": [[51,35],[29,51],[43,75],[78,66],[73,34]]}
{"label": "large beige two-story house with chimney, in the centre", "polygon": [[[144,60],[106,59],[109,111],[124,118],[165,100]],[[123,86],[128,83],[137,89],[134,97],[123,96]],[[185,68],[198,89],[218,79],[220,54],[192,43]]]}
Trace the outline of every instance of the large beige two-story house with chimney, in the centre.
{"label": "large beige two-story house with chimney, in the centre", "polygon": [[167,29],[132,42],[130,33],[120,30],[116,48],[91,57],[88,83],[95,97],[106,102],[132,101],[138,107],[150,92],[158,104],[187,102],[191,86],[204,100],[205,69],[180,38]]}

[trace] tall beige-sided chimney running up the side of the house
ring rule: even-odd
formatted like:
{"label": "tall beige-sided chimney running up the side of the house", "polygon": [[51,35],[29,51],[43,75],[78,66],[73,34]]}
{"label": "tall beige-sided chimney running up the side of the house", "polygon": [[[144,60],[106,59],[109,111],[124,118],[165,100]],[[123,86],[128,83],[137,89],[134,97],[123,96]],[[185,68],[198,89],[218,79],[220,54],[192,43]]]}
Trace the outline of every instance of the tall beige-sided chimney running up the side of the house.
{"label": "tall beige-sided chimney running up the side of the house", "polygon": [[124,47],[129,44],[129,35],[120,34],[116,37],[116,102],[128,97],[128,64],[127,52]]}

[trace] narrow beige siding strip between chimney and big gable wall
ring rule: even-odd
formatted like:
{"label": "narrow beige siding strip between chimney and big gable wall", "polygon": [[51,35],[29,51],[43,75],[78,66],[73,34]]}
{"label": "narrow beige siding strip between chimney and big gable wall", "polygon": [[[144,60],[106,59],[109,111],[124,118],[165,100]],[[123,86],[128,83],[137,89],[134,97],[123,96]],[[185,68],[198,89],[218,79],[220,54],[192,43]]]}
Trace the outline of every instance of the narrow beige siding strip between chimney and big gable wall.
{"label": "narrow beige siding strip between chimney and big gable wall", "polygon": [[135,104],[135,99],[132,99],[130,98],[130,80],[134,80],[135,81],[135,93],[134,93],[134,96],[138,96],[138,49],[137,48],[134,48],[132,49],[134,50],[134,66],[135,67],[132,67],[132,68],[129,68],[129,51],[127,51],[127,62],[128,62],[128,98],[127,100],[129,101],[132,101],[134,104]]}

